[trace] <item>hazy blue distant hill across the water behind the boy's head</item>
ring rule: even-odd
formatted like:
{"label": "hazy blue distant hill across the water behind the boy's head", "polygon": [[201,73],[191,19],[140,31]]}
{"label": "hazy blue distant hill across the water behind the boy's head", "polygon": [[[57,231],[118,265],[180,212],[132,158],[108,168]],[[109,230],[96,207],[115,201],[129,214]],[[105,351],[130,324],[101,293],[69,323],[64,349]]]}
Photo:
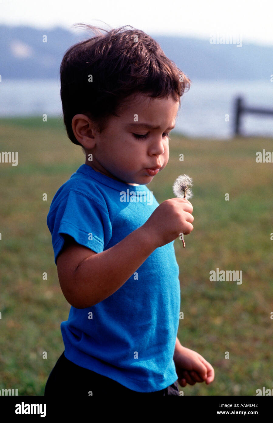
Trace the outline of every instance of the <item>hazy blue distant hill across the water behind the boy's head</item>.
{"label": "hazy blue distant hill across the water behind the boy's head", "polygon": [[[47,42],[43,42],[43,36]],[[7,78],[59,79],[65,50],[91,33],[73,33],[61,27],[39,30],[0,25],[0,74]],[[150,33],[165,54],[191,80],[270,80],[273,47],[246,44],[210,44],[208,40]]]}

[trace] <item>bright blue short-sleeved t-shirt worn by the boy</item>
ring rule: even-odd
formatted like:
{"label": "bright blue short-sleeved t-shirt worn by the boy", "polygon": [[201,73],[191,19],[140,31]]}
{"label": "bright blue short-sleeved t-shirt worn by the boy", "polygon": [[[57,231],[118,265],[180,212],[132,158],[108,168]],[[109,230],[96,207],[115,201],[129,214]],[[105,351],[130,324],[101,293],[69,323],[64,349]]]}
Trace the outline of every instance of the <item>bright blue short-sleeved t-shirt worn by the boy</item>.
{"label": "bright blue short-sleeved t-shirt worn by the boy", "polygon": [[[56,192],[47,216],[55,263],[62,234],[101,253],[143,225],[158,206],[146,185],[81,165]],[[84,309],[71,306],[61,323],[68,360],[138,392],[162,390],[177,380],[180,284],[173,243],[154,250],[110,297]]]}

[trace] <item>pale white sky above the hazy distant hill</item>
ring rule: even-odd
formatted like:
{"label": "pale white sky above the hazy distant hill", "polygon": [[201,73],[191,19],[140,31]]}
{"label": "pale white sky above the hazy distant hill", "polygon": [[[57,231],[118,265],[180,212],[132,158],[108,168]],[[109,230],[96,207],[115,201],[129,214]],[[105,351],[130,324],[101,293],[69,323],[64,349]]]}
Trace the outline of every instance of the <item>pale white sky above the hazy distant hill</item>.
{"label": "pale white sky above the hazy distant hill", "polygon": [[[0,0],[0,24],[35,28],[131,25],[150,35],[237,36],[273,45],[270,0]],[[107,26],[108,25],[108,26]]]}

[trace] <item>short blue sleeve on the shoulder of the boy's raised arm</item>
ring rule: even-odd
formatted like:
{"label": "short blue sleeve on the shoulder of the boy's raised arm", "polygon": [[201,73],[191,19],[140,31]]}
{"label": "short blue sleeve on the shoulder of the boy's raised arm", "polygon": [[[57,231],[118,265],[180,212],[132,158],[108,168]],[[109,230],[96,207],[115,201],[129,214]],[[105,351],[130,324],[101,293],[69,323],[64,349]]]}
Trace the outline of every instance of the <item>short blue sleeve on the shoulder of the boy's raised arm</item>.
{"label": "short blue sleeve on the shoulder of the boy's raised arm", "polygon": [[105,205],[84,193],[70,190],[68,195],[57,198],[51,206],[47,225],[52,235],[55,264],[65,242],[63,234],[72,236],[78,244],[95,253],[104,250],[112,233]]}

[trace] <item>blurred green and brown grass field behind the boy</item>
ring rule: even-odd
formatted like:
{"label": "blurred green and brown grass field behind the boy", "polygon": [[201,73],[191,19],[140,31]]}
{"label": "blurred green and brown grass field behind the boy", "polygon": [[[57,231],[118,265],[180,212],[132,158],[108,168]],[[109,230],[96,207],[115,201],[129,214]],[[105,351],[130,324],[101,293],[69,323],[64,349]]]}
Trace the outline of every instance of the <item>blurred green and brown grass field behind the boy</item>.
{"label": "blurred green and brown grass field behind the boy", "polygon": [[[272,139],[193,140],[173,133],[168,165],[148,185],[161,203],[174,197],[181,173],[194,183],[194,231],[185,236],[185,249],[175,241],[184,313],[178,338],[213,365],[215,380],[187,385],[184,395],[254,396],[263,386],[273,388],[273,165],[256,163],[262,149],[272,152]],[[58,118],[1,119],[1,151],[18,151],[18,165],[0,163],[0,389],[43,395],[64,350],[60,323],[70,310],[46,216],[84,154]],[[211,282],[216,268],[242,270],[242,284]]]}

